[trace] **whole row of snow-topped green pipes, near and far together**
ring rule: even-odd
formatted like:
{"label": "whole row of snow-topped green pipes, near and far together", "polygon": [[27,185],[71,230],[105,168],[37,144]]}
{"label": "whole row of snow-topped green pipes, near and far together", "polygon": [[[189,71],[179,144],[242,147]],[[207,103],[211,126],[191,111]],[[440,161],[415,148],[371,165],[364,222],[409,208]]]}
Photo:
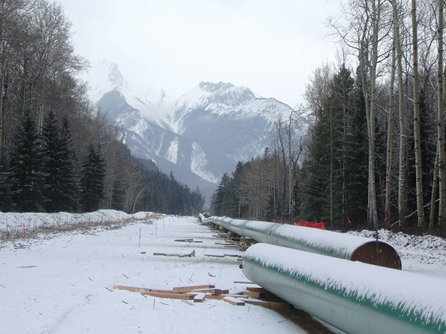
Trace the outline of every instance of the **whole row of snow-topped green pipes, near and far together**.
{"label": "whole row of snow-topped green pipes, near and far together", "polygon": [[261,242],[244,254],[245,276],[344,333],[446,333],[446,280],[395,270],[401,259],[385,242],[272,222],[200,220]]}

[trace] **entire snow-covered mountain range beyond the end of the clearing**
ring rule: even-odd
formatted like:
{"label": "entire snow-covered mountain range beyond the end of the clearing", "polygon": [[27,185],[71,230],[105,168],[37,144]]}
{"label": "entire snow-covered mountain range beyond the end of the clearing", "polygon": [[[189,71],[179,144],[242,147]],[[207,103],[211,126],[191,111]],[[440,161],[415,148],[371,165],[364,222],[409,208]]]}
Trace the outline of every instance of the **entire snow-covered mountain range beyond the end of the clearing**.
{"label": "entire snow-covered mountain range beyond the end of the clearing", "polygon": [[198,185],[209,199],[224,172],[270,145],[274,120],[291,108],[248,88],[201,82],[176,101],[163,90],[132,88],[117,64],[94,64],[89,97],[121,127],[132,154]]}

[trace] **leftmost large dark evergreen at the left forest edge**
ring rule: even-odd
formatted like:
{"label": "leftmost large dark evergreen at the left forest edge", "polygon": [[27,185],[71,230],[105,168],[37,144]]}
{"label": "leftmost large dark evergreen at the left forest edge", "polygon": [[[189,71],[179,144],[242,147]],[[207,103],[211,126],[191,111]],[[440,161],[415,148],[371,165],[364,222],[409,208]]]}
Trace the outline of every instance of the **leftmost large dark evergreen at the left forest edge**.
{"label": "leftmost large dark evergreen at the left forest edge", "polygon": [[12,200],[17,211],[43,211],[44,155],[36,124],[25,113],[10,153]]}

